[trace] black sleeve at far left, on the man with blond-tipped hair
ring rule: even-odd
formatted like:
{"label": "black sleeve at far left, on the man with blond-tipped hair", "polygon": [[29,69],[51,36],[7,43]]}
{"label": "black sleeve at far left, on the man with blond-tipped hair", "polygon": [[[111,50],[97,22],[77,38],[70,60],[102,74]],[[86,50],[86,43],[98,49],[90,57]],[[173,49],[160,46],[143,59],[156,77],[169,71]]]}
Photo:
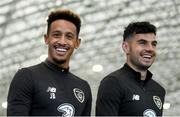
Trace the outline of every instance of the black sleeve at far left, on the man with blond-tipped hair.
{"label": "black sleeve at far left, on the man with blond-tipped hair", "polygon": [[28,69],[19,70],[9,87],[7,116],[28,116],[32,98],[32,79]]}

